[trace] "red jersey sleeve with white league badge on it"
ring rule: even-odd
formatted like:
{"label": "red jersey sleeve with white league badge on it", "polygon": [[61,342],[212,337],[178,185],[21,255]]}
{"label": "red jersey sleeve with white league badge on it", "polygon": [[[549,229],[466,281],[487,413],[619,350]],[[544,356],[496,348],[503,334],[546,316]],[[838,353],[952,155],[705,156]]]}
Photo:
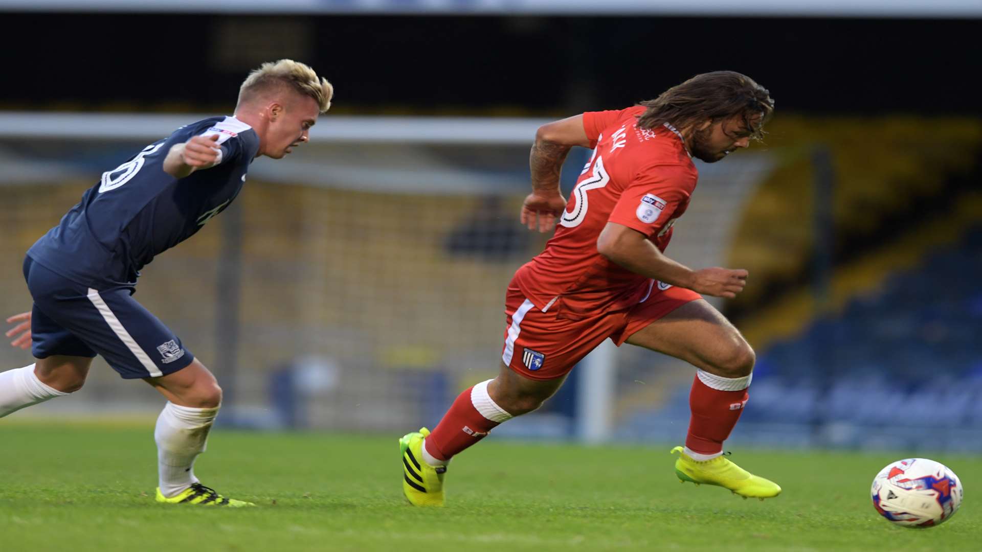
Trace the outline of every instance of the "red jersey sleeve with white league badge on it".
{"label": "red jersey sleeve with white league badge on it", "polygon": [[650,238],[688,203],[694,188],[695,178],[680,165],[649,166],[627,185],[608,221]]}

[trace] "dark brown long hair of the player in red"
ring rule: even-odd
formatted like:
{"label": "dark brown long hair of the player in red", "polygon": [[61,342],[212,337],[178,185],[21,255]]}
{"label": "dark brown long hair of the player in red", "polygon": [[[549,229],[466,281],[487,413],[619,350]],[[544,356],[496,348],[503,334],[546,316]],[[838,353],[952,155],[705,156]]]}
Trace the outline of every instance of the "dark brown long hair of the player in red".
{"label": "dark brown long hair of the player in red", "polygon": [[640,105],[648,108],[637,120],[642,129],[653,129],[664,123],[683,129],[706,119],[715,123],[738,115],[754,139],[763,137],[764,123],[774,113],[771,93],[735,71],[696,75]]}

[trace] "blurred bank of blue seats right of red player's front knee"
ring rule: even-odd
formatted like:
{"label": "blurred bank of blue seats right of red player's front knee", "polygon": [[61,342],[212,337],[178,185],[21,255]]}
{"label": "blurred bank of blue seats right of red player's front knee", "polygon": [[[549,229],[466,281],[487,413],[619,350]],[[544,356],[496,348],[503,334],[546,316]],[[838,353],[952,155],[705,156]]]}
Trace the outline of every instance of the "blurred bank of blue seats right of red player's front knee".
{"label": "blurred bank of blue seats right of red player's front knee", "polygon": [[759,352],[748,422],[982,427],[982,226]]}

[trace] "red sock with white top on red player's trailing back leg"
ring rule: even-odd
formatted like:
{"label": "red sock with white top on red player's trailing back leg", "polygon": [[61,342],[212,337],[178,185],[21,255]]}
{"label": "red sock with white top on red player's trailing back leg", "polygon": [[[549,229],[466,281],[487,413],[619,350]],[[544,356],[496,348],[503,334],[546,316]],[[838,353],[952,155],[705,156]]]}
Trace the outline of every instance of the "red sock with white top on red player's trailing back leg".
{"label": "red sock with white top on red player's trailing back leg", "polygon": [[433,458],[450,460],[483,439],[488,431],[512,417],[488,396],[487,387],[490,381],[482,381],[464,390],[429,437],[426,437],[426,452]]}

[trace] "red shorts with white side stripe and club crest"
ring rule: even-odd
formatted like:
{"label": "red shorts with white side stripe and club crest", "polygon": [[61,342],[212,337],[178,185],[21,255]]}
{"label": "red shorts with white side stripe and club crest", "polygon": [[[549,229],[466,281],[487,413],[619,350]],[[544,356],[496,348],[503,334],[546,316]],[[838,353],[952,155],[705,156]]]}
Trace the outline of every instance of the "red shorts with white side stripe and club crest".
{"label": "red shorts with white side stripe and club crest", "polygon": [[648,324],[702,296],[660,283],[631,308],[598,313],[581,320],[560,318],[554,310],[542,312],[513,282],[505,298],[505,348],[502,361],[529,379],[555,379],[573,369],[607,338],[618,347]]}

